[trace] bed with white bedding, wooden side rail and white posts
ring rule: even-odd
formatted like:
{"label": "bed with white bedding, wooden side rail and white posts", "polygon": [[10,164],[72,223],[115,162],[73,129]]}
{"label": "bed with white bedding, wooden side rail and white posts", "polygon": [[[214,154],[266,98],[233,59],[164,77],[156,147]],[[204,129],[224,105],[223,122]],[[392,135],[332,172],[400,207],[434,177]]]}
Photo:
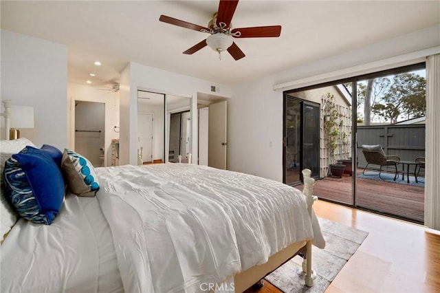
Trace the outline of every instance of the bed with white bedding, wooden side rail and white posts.
{"label": "bed with white bedding, wooden side rail and white posts", "polygon": [[[2,166],[28,144],[38,150],[2,141]],[[14,211],[2,182],[1,292],[243,292],[299,252],[311,286],[311,245],[325,241],[303,174],[301,193],[194,164],[96,168],[98,191],[67,184],[50,225],[3,221]]]}

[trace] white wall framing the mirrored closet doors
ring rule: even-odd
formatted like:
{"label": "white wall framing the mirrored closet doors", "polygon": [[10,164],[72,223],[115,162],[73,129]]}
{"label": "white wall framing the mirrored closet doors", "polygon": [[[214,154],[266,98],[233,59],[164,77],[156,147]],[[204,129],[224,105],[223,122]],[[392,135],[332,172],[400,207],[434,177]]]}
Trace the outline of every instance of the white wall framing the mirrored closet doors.
{"label": "white wall framing the mirrored closet doors", "polygon": [[[120,164],[137,164],[137,89],[191,97],[191,120],[197,121],[197,92],[212,95],[211,85],[221,87],[221,96],[231,96],[232,87],[227,85],[129,63],[120,78]],[[197,162],[197,123],[191,127],[192,162]]]}

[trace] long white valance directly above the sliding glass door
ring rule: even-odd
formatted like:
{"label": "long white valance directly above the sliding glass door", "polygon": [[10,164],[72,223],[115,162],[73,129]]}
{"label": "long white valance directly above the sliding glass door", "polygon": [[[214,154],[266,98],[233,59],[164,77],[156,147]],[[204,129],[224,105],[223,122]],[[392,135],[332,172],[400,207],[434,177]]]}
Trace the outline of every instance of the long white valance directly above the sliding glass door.
{"label": "long white valance directly above the sliding glass door", "polygon": [[439,53],[440,53],[440,46],[431,47],[429,49],[419,50],[408,54],[382,59],[379,61],[347,67],[344,69],[338,69],[336,71],[327,72],[325,74],[318,74],[315,76],[300,78],[298,80],[292,80],[287,83],[280,83],[278,85],[274,85],[273,89],[274,91],[287,91],[290,89],[298,89],[300,87],[318,85],[320,83],[327,83],[334,80],[351,78],[353,76],[369,74],[386,69],[393,69],[405,65],[412,65],[420,62],[425,62],[426,56],[439,54]]}

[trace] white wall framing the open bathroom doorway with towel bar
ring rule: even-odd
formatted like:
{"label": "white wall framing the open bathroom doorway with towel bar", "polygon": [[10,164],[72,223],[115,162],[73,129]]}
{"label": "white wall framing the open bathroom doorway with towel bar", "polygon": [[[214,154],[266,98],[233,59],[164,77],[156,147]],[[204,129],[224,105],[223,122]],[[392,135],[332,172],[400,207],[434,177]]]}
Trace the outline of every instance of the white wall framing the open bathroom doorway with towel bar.
{"label": "white wall framing the open bathroom doorway with towel bar", "polygon": [[115,132],[115,127],[120,126],[119,94],[109,91],[98,91],[98,89],[89,85],[79,85],[76,83],[69,83],[67,85],[67,147],[69,149],[75,149],[75,100],[103,102],[105,104],[104,161],[107,163],[107,166],[111,166],[111,140],[119,138],[119,133]]}

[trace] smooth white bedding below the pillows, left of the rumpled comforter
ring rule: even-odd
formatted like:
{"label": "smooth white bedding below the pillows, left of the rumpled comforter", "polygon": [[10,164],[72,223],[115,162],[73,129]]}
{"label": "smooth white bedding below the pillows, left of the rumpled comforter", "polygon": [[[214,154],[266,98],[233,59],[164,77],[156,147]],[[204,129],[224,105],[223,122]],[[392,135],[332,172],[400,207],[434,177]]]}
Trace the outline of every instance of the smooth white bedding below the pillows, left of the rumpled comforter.
{"label": "smooth white bedding below the pillows, left of the rumpled comforter", "polygon": [[0,292],[124,292],[96,197],[66,195],[50,226],[19,219],[0,253]]}

